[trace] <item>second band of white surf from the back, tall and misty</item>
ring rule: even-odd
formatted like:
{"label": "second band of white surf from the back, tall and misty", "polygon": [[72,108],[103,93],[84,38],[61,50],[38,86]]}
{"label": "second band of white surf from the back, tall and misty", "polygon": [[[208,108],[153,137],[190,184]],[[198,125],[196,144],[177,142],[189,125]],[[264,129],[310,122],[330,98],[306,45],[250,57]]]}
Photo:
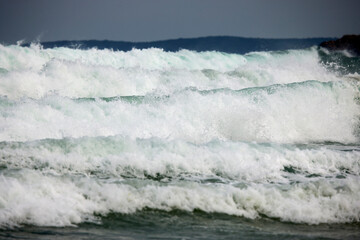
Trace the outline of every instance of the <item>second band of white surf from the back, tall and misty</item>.
{"label": "second band of white surf from the back, tall and misty", "polygon": [[[357,82],[179,92],[125,100],[74,101],[61,97],[8,101],[0,116],[0,141],[123,135],[131,138],[212,139],[278,143],[355,143],[359,132]],[[161,126],[161,127],[159,127]]]}

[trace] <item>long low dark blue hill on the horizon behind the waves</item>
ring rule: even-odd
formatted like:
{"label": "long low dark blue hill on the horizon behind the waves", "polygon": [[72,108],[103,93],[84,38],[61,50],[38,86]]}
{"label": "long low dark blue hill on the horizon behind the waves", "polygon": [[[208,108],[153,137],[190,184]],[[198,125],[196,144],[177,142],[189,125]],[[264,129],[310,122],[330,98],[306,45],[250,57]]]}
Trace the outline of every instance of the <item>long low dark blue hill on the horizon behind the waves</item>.
{"label": "long low dark blue hill on the horizon behind the waves", "polygon": [[[305,38],[305,39],[262,39],[242,37],[200,37],[179,38],[154,42],[125,42],[108,40],[84,40],[84,41],[55,41],[42,42],[44,48],[71,47],[71,48],[98,48],[129,51],[132,48],[162,48],[165,51],[178,51],[188,49],[194,51],[221,51],[226,53],[244,54],[252,51],[277,51],[288,49],[302,49],[317,46],[321,42],[334,40],[333,38]],[[25,44],[29,45],[29,44]]]}

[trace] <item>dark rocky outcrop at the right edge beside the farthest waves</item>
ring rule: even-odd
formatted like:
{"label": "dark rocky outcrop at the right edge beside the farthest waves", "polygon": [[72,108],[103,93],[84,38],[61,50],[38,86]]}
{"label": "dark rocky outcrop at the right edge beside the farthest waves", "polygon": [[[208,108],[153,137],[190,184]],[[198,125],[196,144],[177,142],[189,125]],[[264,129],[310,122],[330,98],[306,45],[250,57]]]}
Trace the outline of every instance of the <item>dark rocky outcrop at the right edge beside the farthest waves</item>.
{"label": "dark rocky outcrop at the right edge beside the farthest waves", "polygon": [[320,43],[320,47],[330,51],[347,50],[357,56],[360,56],[360,35],[344,35],[335,41],[326,41]]}

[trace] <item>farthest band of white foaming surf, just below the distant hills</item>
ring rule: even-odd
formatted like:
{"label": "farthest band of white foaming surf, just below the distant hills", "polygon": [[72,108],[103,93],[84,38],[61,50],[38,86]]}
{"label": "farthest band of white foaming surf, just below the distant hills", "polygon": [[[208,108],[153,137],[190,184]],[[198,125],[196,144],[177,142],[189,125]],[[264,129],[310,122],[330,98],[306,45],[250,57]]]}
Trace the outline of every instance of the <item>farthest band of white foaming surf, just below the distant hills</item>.
{"label": "farthest band of white foaming surf, just below the distant hills", "polygon": [[11,99],[170,94],[186,87],[242,89],[339,79],[319,63],[315,49],[238,55],[0,45],[0,70],[0,95]]}

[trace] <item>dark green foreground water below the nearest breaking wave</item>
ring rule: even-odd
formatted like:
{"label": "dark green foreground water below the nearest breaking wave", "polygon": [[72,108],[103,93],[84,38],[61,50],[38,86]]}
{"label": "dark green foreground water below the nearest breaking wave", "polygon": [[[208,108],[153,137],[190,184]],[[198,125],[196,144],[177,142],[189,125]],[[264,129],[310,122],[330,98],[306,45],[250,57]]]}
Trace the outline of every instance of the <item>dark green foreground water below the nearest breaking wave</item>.
{"label": "dark green foreground water below the nearest breaking wave", "polygon": [[249,220],[196,211],[141,211],[110,214],[101,224],[78,227],[25,227],[5,230],[5,238],[26,239],[358,239],[358,224],[302,225],[276,219]]}

